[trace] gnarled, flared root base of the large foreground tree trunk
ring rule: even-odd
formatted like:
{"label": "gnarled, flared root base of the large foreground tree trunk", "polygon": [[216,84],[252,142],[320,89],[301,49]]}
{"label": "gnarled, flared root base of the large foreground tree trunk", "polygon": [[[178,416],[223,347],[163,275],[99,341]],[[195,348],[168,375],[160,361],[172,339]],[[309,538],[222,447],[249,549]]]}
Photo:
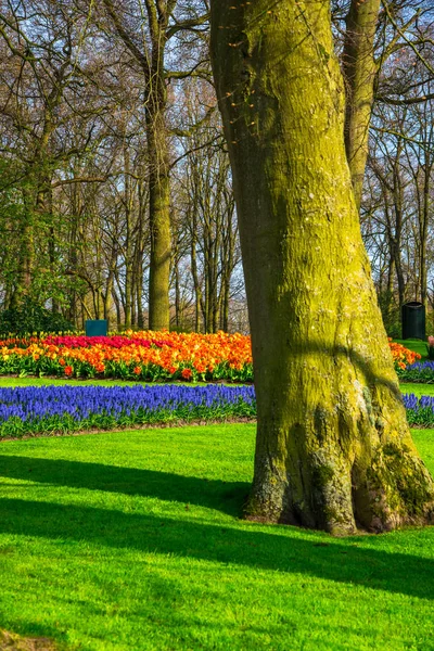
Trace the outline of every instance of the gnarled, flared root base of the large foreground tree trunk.
{"label": "gnarled, flared root base of the large foreground tree trunk", "polygon": [[345,468],[345,459],[334,457],[319,464],[319,455],[314,457],[310,476],[301,473],[301,483],[291,473],[277,478],[266,472],[268,476],[260,473],[260,478],[256,472],[245,518],[334,536],[434,524],[433,482],[413,448],[387,444],[369,467],[358,460],[352,469]]}

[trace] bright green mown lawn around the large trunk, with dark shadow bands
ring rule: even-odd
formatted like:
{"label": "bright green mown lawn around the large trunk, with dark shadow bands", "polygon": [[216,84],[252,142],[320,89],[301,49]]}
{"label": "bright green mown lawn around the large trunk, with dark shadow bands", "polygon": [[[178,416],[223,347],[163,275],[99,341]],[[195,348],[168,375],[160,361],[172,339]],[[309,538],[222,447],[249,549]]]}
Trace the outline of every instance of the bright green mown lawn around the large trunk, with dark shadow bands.
{"label": "bright green mown lawn around the large trunk, with dark shadow bands", "polygon": [[[254,430],[1,443],[0,628],[92,651],[434,649],[434,529],[240,521]],[[434,431],[414,438],[434,471]]]}

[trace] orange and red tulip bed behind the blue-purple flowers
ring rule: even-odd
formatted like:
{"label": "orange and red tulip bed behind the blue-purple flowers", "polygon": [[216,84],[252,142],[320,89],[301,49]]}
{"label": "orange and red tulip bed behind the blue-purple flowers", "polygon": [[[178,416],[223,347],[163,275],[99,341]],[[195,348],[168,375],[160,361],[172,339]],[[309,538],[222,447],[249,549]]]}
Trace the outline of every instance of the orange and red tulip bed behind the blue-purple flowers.
{"label": "orange and red tulip bed behind the blue-purple flowers", "polygon": [[[390,341],[403,379],[420,355]],[[145,382],[252,382],[251,339],[242,334],[126,332],[0,340],[0,375],[111,378]],[[414,374],[414,373],[413,373]],[[434,380],[434,371],[430,375]]]}

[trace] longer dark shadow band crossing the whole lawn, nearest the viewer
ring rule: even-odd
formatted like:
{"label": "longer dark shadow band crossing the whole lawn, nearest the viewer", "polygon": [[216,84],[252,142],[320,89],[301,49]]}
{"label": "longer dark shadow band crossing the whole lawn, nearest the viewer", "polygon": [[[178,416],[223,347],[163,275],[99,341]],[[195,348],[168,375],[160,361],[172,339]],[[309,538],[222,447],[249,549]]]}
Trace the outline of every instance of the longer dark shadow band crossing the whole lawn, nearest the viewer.
{"label": "longer dark shadow band crossing the whole lawn, nearest the viewer", "polygon": [[[183,518],[183,519],[182,519]],[[114,549],[176,554],[224,564],[299,573],[411,597],[434,598],[434,561],[358,547],[360,540],[303,539],[269,527],[241,527],[107,509],[0,500],[0,533],[69,539]],[[303,578],[301,577],[301,582]],[[303,585],[302,585],[303,587]]]}

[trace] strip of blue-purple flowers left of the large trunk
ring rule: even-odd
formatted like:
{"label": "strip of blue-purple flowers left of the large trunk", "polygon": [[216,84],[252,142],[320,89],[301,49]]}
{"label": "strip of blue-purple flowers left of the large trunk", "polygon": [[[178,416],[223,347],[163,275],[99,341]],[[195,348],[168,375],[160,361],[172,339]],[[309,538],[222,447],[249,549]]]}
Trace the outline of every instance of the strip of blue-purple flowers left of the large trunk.
{"label": "strip of blue-purple flowers left of the large trunk", "polygon": [[0,388],[0,436],[256,416],[253,386]]}

